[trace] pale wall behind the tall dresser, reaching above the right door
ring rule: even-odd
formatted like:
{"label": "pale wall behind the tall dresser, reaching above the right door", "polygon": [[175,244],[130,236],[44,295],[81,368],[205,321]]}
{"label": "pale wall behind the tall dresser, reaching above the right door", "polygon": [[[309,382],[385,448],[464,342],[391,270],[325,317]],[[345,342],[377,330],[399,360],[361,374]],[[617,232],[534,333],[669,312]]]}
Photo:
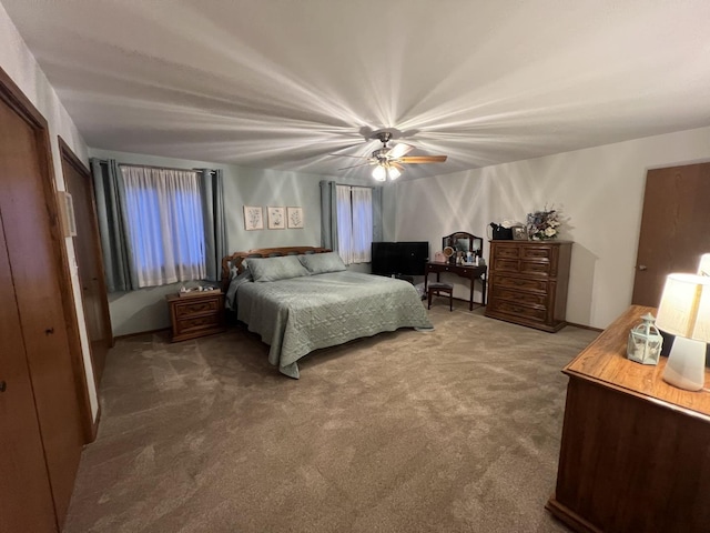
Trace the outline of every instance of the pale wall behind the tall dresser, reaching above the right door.
{"label": "pale wall behind the tall dresser, reaching above the right door", "polygon": [[[453,231],[486,237],[490,221],[525,222],[527,213],[555,207],[564,220],[560,238],[575,241],[567,320],[604,329],[631,303],[647,171],[708,160],[710,128],[700,128],[403,181],[395,234],[427,240],[434,253]],[[452,281],[465,299],[464,282]]]}

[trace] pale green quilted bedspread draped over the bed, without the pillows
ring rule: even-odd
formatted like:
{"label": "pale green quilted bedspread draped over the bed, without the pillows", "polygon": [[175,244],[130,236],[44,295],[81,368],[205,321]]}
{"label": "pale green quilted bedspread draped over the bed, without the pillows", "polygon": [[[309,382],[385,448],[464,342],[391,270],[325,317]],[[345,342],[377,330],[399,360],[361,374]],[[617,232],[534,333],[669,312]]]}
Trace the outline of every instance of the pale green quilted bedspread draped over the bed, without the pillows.
{"label": "pale green quilted bedspread draped over the bed, without the pillows", "polygon": [[237,319],[271,346],[268,361],[295,379],[296,361],[313,350],[399,328],[433,329],[414,285],[358,272],[242,283],[235,300]]}

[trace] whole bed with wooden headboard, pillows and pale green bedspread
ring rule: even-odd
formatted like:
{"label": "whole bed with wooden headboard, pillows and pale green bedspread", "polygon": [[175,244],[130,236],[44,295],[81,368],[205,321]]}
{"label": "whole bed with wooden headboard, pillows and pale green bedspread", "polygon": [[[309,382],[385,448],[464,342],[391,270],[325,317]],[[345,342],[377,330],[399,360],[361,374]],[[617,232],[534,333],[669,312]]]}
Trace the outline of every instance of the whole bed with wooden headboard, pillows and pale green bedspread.
{"label": "whole bed with wooden headboard, pillows and pale green bedspread", "polygon": [[399,328],[432,330],[412,283],[348,271],[315,247],[236,252],[222,260],[225,305],[270,345],[268,361],[298,379],[310,352]]}

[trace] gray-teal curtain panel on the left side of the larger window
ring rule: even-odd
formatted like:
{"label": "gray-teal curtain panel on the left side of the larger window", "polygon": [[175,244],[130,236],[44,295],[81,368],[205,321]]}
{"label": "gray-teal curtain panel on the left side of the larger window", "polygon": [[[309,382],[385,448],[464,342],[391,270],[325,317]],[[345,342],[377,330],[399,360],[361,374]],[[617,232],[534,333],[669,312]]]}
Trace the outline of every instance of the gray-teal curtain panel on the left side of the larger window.
{"label": "gray-teal curtain panel on the left side of the larger window", "polygon": [[138,273],[131,266],[131,245],[125,227],[123,180],[113,159],[91,158],[91,174],[97,197],[101,253],[109,292],[138,289]]}

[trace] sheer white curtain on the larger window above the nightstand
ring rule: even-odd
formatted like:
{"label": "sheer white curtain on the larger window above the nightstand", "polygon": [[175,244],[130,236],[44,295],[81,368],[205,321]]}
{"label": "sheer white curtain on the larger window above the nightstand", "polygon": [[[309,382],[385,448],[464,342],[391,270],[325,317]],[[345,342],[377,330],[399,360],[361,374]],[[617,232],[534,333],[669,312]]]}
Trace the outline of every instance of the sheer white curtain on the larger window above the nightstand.
{"label": "sheer white curtain on the larger window above the nightstand", "polygon": [[206,278],[197,173],[121,167],[139,286]]}

